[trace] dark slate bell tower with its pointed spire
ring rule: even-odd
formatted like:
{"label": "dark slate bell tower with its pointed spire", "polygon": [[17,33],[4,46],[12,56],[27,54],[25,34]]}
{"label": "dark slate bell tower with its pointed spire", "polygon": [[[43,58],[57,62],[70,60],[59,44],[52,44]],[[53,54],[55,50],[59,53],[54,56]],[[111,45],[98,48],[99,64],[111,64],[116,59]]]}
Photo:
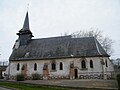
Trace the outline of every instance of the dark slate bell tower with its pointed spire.
{"label": "dark slate bell tower with its pointed spire", "polygon": [[17,35],[19,38],[16,42],[19,42],[19,46],[27,45],[31,41],[32,37],[34,37],[29,28],[28,12],[26,13],[23,28],[17,33]]}

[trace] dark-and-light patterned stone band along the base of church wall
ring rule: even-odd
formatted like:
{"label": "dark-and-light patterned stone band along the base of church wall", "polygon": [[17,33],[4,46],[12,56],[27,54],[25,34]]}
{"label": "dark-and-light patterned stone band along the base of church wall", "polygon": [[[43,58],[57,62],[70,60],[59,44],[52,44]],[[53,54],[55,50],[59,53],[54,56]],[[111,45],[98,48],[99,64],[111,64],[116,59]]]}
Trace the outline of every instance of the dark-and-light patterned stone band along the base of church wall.
{"label": "dark-and-light patterned stone band along the base of church wall", "polygon": [[[10,76],[10,80],[15,80],[16,76]],[[26,76],[26,80],[32,80],[32,76]],[[66,75],[66,76],[60,76],[60,75],[48,75],[45,77],[44,75],[40,74],[40,80],[52,80],[52,79],[75,79],[74,76]],[[113,79],[112,74],[102,74],[102,73],[95,73],[95,74],[79,74],[78,78],[76,79]]]}

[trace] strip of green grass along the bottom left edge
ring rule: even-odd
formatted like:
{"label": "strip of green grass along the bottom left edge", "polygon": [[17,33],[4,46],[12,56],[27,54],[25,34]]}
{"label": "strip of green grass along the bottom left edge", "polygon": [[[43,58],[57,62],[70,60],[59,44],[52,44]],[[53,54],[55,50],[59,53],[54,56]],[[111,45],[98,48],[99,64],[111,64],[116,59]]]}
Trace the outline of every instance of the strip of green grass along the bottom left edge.
{"label": "strip of green grass along the bottom left edge", "polygon": [[0,82],[0,86],[14,88],[16,90],[69,90],[67,88],[62,88],[62,87],[40,86],[40,85],[12,83],[12,82]]}

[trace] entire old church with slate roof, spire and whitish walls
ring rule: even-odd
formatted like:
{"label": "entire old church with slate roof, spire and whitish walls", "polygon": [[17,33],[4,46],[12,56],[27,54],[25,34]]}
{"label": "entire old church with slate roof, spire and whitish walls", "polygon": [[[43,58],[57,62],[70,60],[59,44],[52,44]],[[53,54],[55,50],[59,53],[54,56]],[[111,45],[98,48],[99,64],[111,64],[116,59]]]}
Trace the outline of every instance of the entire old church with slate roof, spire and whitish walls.
{"label": "entire old church with slate roof, spire and whitish walls", "polygon": [[32,39],[29,16],[9,58],[6,74],[12,79],[17,74],[41,79],[111,79],[113,64],[109,55],[94,37],[73,38],[59,36]]}

